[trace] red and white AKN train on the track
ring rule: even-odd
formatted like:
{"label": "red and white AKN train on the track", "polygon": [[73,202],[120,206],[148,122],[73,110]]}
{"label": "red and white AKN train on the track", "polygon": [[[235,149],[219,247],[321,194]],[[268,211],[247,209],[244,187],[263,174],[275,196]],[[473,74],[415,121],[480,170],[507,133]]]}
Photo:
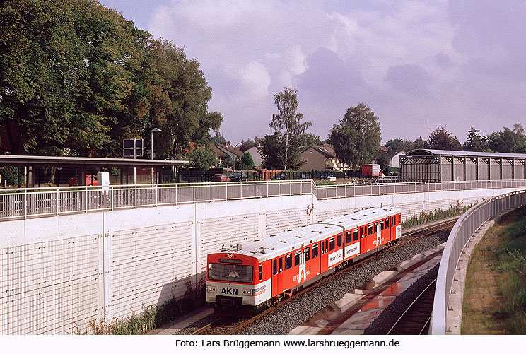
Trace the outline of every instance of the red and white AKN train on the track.
{"label": "red and white AKN train on the track", "polygon": [[208,255],[206,302],[257,312],[401,236],[399,208],[370,208]]}

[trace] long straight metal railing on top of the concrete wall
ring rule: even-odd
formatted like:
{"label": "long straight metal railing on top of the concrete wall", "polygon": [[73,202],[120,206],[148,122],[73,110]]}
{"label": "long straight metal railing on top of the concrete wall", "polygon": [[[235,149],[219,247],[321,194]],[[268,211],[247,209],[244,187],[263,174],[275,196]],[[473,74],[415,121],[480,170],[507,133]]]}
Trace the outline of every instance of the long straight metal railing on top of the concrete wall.
{"label": "long straight metal railing on top of the concrete wall", "polygon": [[312,194],[317,199],[526,187],[526,180],[316,186],[312,180],[0,189],[0,220],[139,206]]}

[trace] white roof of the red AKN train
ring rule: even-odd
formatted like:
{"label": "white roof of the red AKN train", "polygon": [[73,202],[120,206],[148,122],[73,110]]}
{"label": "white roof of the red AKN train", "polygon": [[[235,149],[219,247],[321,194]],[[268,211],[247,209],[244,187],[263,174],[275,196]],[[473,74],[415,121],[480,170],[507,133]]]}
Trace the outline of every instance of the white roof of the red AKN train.
{"label": "white roof of the red AKN train", "polygon": [[264,240],[242,244],[242,249],[226,249],[221,253],[245,254],[256,257],[260,262],[272,259],[280,254],[291,252],[294,249],[314,244],[329,236],[336,235],[343,230],[356,228],[381,218],[399,213],[399,208],[370,208],[361,211],[354,211],[337,218],[329,218],[315,224],[302,226],[295,230],[281,232],[278,235],[267,237]]}

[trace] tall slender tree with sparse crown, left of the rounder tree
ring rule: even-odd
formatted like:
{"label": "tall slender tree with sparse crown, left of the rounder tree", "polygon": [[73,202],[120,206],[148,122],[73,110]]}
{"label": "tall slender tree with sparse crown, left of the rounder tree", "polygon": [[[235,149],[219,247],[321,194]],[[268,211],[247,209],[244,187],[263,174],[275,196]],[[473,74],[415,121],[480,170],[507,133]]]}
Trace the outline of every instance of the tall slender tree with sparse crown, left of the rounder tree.
{"label": "tall slender tree with sparse crown, left of the rounder tree", "polygon": [[269,126],[279,134],[281,140],[279,148],[283,151],[284,169],[293,170],[303,163],[300,160],[300,139],[311,123],[301,122],[303,114],[297,112],[296,89],[284,88],[283,92],[276,93],[274,103],[278,107],[279,114],[272,114],[272,122]]}

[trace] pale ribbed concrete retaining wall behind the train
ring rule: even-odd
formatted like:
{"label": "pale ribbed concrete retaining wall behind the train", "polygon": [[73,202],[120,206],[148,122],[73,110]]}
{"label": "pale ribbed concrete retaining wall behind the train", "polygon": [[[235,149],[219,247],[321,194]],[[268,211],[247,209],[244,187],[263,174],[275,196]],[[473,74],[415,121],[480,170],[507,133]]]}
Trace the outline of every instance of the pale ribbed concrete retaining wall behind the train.
{"label": "pale ribbed concrete retaining wall behind the train", "polygon": [[512,189],[317,201],[314,196],[221,201],[0,223],[0,334],[66,334],[180,297],[206,254],[340,216],[397,205],[403,218],[467,205]]}

